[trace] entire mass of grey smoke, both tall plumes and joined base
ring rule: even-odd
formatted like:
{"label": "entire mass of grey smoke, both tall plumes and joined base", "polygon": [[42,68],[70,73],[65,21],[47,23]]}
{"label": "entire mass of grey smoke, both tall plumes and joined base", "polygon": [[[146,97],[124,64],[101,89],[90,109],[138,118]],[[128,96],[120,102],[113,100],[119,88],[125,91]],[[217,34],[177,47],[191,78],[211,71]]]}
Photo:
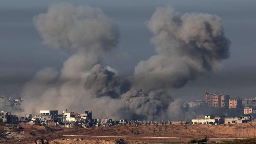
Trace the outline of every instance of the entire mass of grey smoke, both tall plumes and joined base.
{"label": "entire mass of grey smoke, both tall plumes and joined base", "polygon": [[157,54],[135,66],[120,85],[117,71],[100,59],[119,41],[113,20],[99,8],[60,3],[33,18],[43,43],[70,57],[60,72],[43,68],[24,86],[25,113],[39,109],[92,110],[95,117],[186,119],[193,116],[174,99],[173,90],[216,70],[230,55],[221,18],[202,13],[180,14],[158,7],[147,22]]}

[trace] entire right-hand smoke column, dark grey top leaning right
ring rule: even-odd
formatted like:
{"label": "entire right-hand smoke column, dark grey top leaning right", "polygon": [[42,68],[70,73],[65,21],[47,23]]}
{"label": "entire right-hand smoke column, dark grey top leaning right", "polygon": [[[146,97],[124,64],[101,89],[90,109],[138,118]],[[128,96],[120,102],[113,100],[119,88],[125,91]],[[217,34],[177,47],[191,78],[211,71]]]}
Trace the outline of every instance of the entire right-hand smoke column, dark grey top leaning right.
{"label": "entire right-hand smoke column, dark grey top leaning right", "polygon": [[[161,115],[159,111],[163,109],[167,115],[164,118],[173,118],[172,109],[178,109],[179,100],[173,103],[170,98],[172,90],[183,87],[205,72],[217,69],[220,62],[230,55],[230,42],[224,36],[218,16],[202,13],[182,15],[171,7],[158,7],[148,22],[148,28],[154,34],[151,42],[155,45],[157,55],[135,66],[132,90],[123,94],[122,98],[128,107],[136,105],[135,113],[152,117]],[[139,90],[136,95],[134,89],[142,89],[145,94]],[[152,91],[157,96],[147,96],[145,101],[146,95]],[[150,103],[151,107],[156,108],[153,113],[145,112],[148,109],[145,105],[150,100],[158,100],[157,103]]]}

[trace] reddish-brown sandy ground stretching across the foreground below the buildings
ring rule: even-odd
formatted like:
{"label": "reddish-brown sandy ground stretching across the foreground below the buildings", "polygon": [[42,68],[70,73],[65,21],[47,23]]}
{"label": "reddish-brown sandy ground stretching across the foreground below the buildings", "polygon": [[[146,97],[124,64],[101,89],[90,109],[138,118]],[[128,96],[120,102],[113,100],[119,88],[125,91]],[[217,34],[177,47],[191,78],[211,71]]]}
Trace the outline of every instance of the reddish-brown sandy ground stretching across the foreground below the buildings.
{"label": "reddish-brown sandy ground stretching across the foreground below the buildings", "polygon": [[[210,141],[256,136],[256,122],[224,125],[111,126],[61,128],[56,126],[0,126],[0,143],[130,144],[187,143],[192,138]],[[121,139],[120,139],[121,138]]]}

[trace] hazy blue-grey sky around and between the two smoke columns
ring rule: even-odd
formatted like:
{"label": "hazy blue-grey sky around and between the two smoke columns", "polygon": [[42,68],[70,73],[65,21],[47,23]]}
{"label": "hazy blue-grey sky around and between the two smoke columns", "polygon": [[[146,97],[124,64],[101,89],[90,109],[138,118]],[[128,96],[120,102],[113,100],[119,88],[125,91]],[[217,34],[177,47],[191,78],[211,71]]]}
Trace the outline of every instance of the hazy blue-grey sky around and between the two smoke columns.
{"label": "hazy blue-grey sky around and between the two smoke columns", "polygon": [[[32,18],[45,13],[61,0],[0,0],[0,94],[19,95],[26,81],[45,66],[61,69],[68,55],[42,44]],[[180,11],[216,14],[223,20],[225,35],[231,41],[229,59],[218,72],[190,81],[173,96],[203,99],[205,92],[221,92],[236,98],[256,97],[256,1],[247,0],[76,0],[74,5],[100,7],[120,30],[114,50],[118,55],[104,62],[122,78],[134,66],[156,54],[150,43],[153,34],[146,26],[156,7],[171,6]]]}

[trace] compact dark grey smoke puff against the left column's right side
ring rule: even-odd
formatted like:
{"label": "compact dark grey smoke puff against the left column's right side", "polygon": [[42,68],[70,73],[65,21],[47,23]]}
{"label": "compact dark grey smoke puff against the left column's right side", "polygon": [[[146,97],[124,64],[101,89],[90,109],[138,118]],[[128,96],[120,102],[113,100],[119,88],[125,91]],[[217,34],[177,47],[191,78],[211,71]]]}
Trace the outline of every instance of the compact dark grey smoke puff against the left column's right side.
{"label": "compact dark grey smoke puff against the left column's right side", "polygon": [[119,97],[119,94],[115,91],[115,87],[118,87],[120,82],[115,72],[98,64],[95,65],[89,73],[84,85],[85,90],[89,90],[89,92],[96,97]]}

